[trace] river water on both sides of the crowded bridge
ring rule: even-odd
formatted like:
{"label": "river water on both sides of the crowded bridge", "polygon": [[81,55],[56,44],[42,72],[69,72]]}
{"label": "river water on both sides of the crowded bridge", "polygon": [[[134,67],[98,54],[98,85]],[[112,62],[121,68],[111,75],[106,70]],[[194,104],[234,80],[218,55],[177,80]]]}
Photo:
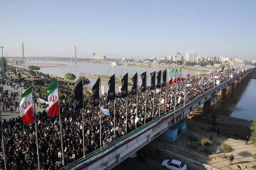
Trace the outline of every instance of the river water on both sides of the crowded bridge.
{"label": "river water on both sides of the crowded bridge", "polygon": [[[42,66],[44,61],[34,61],[40,62],[40,64],[33,64]],[[57,63],[56,61],[46,61],[47,63]],[[55,76],[64,77],[66,73],[73,73],[77,77],[80,73],[89,73],[89,74],[108,74],[108,69],[111,67],[111,64],[100,64],[100,63],[71,63],[71,62],[58,62],[60,64],[67,64],[66,66],[59,67],[49,67],[41,68],[41,72],[52,74]],[[29,65],[29,63],[26,63]],[[45,64],[46,65],[46,64]],[[117,65],[114,68],[109,69],[109,75],[116,74],[116,76],[121,76],[121,70],[125,65]],[[129,77],[132,77],[135,72],[138,71],[139,75],[145,71],[148,71],[148,77],[150,77],[151,72],[159,71],[160,69],[155,68],[146,68],[146,67],[134,67],[129,66],[123,69],[123,75],[128,72]],[[182,72],[182,77],[186,76],[187,72]],[[195,72],[191,72],[191,75],[194,75]],[[168,75],[168,74],[167,74]],[[90,79],[92,88],[95,83],[94,79]],[[149,80],[149,78],[148,78]],[[139,76],[139,83],[140,76]],[[105,87],[105,92],[107,89],[106,84],[101,84]],[[256,118],[255,113],[255,103],[256,103],[256,79],[248,79],[246,86],[239,86],[234,89],[233,93],[227,93],[224,103],[221,103],[219,100],[211,106],[210,114],[230,116],[236,118],[242,118],[247,120],[252,120]],[[116,90],[118,91],[118,89]]]}

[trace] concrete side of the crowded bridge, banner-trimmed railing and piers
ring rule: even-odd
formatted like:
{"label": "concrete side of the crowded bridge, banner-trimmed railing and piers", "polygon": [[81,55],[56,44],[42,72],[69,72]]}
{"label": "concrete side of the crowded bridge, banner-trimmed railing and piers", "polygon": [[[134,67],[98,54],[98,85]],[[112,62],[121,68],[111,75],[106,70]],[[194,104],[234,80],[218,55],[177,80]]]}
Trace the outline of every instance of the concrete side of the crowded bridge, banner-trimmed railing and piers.
{"label": "concrete side of the crowded bridge, banner-trimmed railing and piers", "polygon": [[150,143],[150,141],[169,130],[175,124],[178,124],[183,117],[193,112],[202,104],[204,104],[203,114],[207,114],[211,107],[211,101],[215,101],[218,94],[220,94],[220,100],[224,101],[226,91],[232,92],[235,83],[237,87],[240,83],[245,83],[254,69],[255,68],[248,69],[240,72],[238,75],[231,76],[232,78],[221,82],[187,101],[184,106],[177,107],[175,112],[172,110],[161,115],[155,120],[148,122],[146,125],[130,132],[127,136],[119,138],[114,143],[107,145],[102,150],[97,150],[96,152],[87,155],[86,158],[81,158],[66,166],[65,169],[110,170],[114,168],[131,154]]}

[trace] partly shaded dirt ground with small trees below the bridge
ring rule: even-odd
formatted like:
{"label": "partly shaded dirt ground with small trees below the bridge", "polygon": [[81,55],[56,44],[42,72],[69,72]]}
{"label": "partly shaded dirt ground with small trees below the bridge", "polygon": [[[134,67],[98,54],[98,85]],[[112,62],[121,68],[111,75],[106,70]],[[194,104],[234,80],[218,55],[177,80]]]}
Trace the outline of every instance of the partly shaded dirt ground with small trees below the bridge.
{"label": "partly shaded dirt ground with small trees below the bridge", "polygon": [[[249,145],[245,145],[245,140],[243,139],[247,134],[250,134],[251,122],[226,116],[218,116],[216,120],[217,129],[220,128],[221,130],[220,137],[212,129],[212,118],[192,115],[189,118],[185,118],[187,133],[181,135],[173,144],[159,138],[152,143],[219,169],[234,170],[237,165],[240,165],[242,169],[245,169],[245,166],[250,170],[256,169],[256,160],[253,159],[253,155],[256,154],[256,146],[251,141],[249,141]],[[208,153],[205,153],[205,147],[197,141],[192,143],[191,148],[190,141],[187,139],[189,134],[197,136],[199,140],[204,137],[210,138],[210,135],[213,134],[213,147],[208,148]],[[222,142],[233,147],[233,151],[226,153],[227,158],[223,157],[224,151],[220,148]],[[235,157],[232,166],[228,165],[228,156],[231,154]]]}

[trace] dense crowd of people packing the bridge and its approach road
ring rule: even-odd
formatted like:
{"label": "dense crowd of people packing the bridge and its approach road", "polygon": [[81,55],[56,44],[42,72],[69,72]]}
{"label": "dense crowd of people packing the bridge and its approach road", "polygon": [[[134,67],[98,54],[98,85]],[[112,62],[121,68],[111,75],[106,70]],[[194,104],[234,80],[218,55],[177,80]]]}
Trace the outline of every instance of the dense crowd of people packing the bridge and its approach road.
{"label": "dense crowd of people packing the bridge and its approach road", "polygon": [[[230,74],[236,75],[241,72],[241,69],[221,70],[208,74],[201,74],[197,76],[190,76],[187,78],[186,101],[201,94],[207,89],[216,85],[216,81],[220,82],[229,78]],[[37,75],[48,78],[49,75],[37,72]],[[218,76],[218,79],[214,79]],[[11,78],[12,82],[23,83],[25,88],[31,85],[31,82],[20,82],[17,79]],[[45,80],[46,83],[50,79]],[[188,84],[190,86],[188,86]],[[11,84],[10,84],[11,86]],[[57,170],[62,167],[62,156],[64,156],[65,165],[70,164],[77,159],[83,157],[83,149],[88,155],[100,148],[105,147],[114,140],[128,134],[136,128],[143,126],[144,122],[149,122],[165,113],[161,99],[165,99],[166,94],[166,112],[172,110],[175,106],[183,104],[185,97],[185,78],[177,83],[177,92],[175,95],[175,84],[161,87],[160,93],[154,93],[146,90],[142,92],[138,89],[138,107],[137,95],[128,93],[128,102],[126,98],[122,98],[119,92],[115,95],[115,129],[114,129],[114,101],[108,100],[108,96],[101,97],[101,106],[109,109],[110,115],[101,114],[101,137],[100,141],[100,109],[93,107],[93,100],[89,98],[84,101],[84,140],[85,148],[83,148],[83,134],[82,134],[82,111],[75,110],[75,103],[69,103],[68,98],[73,98],[73,89],[68,88],[62,83],[59,83],[59,93],[65,95],[65,100],[60,103],[60,111],[62,120],[60,122],[59,116],[49,117],[47,109],[42,112],[37,112],[37,131],[38,131],[38,146],[39,146],[39,160],[41,162],[42,170]],[[167,89],[165,89],[167,88]],[[0,104],[6,106],[18,107],[15,98],[12,98],[11,93],[0,88],[1,98]],[[156,90],[157,91],[157,90]],[[16,93],[15,93],[16,94]],[[39,95],[39,96],[38,96]],[[42,94],[41,94],[42,95]],[[145,97],[147,95],[147,100]],[[37,97],[42,97],[37,94]],[[47,96],[43,96],[47,98]],[[180,98],[180,99],[179,99]],[[179,99],[179,100],[178,100]],[[146,106],[145,106],[146,103]],[[154,103],[154,106],[153,106]],[[126,129],[126,105],[128,107],[127,114],[127,129]],[[145,108],[146,107],[146,108]],[[15,108],[16,109],[16,108]],[[138,111],[136,110],[138,109]],[[146,109],[146,110],[145,110]],[[146,114],[146,116],[145,116]],[[139,118],[135,123],[135,118]],[[146,120],[144,118],[146,117]],[[63,148],[64,155],[61,149],[61,131],[60,123],[62,125],[63,133]],[[7,164],[14,169],[35,169],[37,167],[37,146],[35,137],[35,124],[23,125],[20,117],[3,121],[4,143]],[[115,136],[114,136],[115,131]],[[1,156],[3,156],[3,148],[1,148]],[[2,161],[1,168],[4,164]],[[0,168],[0,169],[1,169]]]}

